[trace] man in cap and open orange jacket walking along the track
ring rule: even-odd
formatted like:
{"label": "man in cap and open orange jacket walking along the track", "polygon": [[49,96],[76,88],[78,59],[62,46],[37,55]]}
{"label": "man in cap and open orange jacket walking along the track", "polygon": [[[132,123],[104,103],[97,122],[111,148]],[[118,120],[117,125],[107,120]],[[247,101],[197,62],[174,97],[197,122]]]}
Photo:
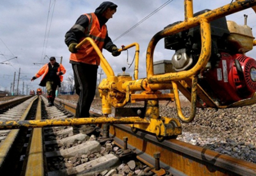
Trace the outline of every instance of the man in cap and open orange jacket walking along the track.
{"label": "man in cap and open orange jacket walking along the track", "polygon": [[39,86],[46,87],[46,93],[48,98],[48,104],[46,106],[54,106],[55,92],[57,86],[60,87],[60,82],[63,80],[63,76],[66,73],[65,67],[62,64],[56,62],[55,57],[50,57],[50,62],[46,63],[35,76],[31,78],[31,81],[42,76],[42,80]]}

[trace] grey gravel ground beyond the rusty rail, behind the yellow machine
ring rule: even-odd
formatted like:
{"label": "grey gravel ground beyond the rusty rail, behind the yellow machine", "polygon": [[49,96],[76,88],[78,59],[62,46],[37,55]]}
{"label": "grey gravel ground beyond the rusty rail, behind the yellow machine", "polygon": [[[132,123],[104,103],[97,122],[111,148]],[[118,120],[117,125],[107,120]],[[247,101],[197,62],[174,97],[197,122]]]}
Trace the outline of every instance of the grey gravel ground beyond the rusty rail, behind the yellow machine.
{"label": "grey gravel ground beyond the rusty rail, behind the yellow machine", "polygon": [[[78,96],[59,96],[76,104]],[[177,117],[174,103],[161,101],[161,116]],[[184,116],[190,115],[187,101],[181,102]],[[92,109],[101,110],[101,100],[95,99]],[[114,112],[114,108],[113,111]],[[256,163],[256,104],[232,109],[197,109],[192,123],[181,123],[183,134],[178,140],[210,148],[242,160]]]}

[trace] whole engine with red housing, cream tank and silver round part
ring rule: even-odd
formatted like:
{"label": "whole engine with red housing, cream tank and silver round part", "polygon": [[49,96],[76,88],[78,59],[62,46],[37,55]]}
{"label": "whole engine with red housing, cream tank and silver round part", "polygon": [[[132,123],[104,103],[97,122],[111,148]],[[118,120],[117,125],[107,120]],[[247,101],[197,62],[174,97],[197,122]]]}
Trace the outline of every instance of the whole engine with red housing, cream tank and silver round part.
{"label": "whole engine with red housing, cream tank and silver round part", "polygon": [[[208,11],[194,13],[194,16]],[[167,28],[177,23],[180,22]],[[198,75],[198,84],[220,106],[251,98],[256,92],[256,60],[244,55],[254,46],[251,28],[223,17],[210,22],[210,30],[211,55],[204,71]],[[201,46],[200,26],[164,38],[164,47],[175,50],[171,58],[174,72],[195,66]]]}

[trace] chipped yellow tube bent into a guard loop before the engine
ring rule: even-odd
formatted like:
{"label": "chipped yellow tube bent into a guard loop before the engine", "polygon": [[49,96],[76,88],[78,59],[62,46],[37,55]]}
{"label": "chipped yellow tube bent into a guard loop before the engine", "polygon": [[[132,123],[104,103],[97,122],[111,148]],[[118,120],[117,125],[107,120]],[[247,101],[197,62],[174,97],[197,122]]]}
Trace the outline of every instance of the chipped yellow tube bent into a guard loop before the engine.
{"label": "chipped yellow tube bent into a guard loop before the engine", "polygon": [[[174,35],[175,33],[185,31],[186,29],[193,28],[199,24],[201,24],[201,29],[203,28],[208,28],[209,24],[208,22],[213,21],[214,19],[221,18],[223,16],[230,15],[232,13],[241,11],[243,9],[250,8],[252,6],[256,5],[256,1],[250,1],[250,0],[241,0],[241,1],[236,1],[231,4],[222,6],[220,8],[214,9],[213,11],[209,11],[206,13],[203,13],[202,15],[195,16],[194,18],[189,18],[187,21],[178,23],[177,25],[170,26],[169,28],[164,29],[163,31],[158,32],[156,35],[153,36],[153,38],[150,40],[149,46],[147,48],[147,58],[146,58],[146,63],[147,63],[147,79],[149,80],[149,83],[157,83],[157,82],[165,82],[167,80],[181,80],[184,77],[190,77],[193,74],[196,74],[196,72],[200,69],[203,69],[204,63],[206,60],[202,59],[207,59],[207,58],[202,58],[206,57],[201,56],[201,60],[198,61],[198,65],[200,66],[199,68],[193,67],[192,69],[188,71],[183,71],[179,73],[169,73],[169,74],[164,74],[164,75],[159,75],[159,76],[154,76],[154,70],[153,70],[153,53],[154,53],[154,48],[156,47],[157,42],[159,42],[160,39],[169,36],[169,35]],[[206,19],[206,20],[205,20]],[[203,27],[203,28],[202,28]],[[201,33],[205,33],[204,31],[201,31]],[[204,39],[204,42],[207,42],[208,35],[210,35],[210,32],[204,34],[207,39]],[[201,36],[203,38],[203,36]],[[203,43],[203,45],[208,45],[208,43]],[[207,52],[206,49],[209,49],[210,46],[207,48],[204,46],[204,52]],[[209,51],[210,52],[210,51]],[[203,64],[202,64],[203,62]],[[185,76],[183,76],[185,74]]]}

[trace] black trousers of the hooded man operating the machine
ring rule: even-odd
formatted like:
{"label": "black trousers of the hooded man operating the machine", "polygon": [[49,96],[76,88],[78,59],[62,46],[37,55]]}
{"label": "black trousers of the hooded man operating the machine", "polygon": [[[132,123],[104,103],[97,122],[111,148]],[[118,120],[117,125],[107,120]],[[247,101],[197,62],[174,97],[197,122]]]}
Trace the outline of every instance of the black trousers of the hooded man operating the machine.
{"label": "black trousers of the hooded man operating the machine", "polygon": [[76,94],[79,96],[76,117],[90,117],[89,110],[95,97],[97,65],[72,64]]}

